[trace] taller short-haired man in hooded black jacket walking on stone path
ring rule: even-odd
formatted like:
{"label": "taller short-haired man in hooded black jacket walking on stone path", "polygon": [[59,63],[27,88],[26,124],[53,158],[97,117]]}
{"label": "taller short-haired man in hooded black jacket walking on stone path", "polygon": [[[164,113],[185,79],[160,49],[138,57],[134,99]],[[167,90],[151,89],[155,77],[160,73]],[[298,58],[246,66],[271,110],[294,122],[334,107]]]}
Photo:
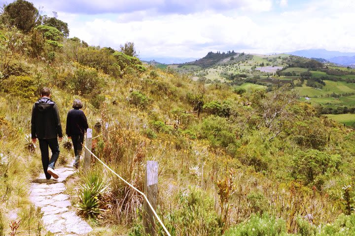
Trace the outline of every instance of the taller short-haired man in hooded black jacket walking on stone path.
{"label": "taller short-haired man in hooded black jacket walking on stone path", "polygon": [[[39,141],[39,148],[42,156],[42,166],[45,177],[58,178],[55,173],[55,163],[59,157],[59,141],[63,138],[62,125],[59,118],[57,104],[50,99],[50,89],[44,87],[40,92],[41,98],[35,102],[32,108],[31,136],[32,142]],[[49,159],[48,146],[52,151]]]}

